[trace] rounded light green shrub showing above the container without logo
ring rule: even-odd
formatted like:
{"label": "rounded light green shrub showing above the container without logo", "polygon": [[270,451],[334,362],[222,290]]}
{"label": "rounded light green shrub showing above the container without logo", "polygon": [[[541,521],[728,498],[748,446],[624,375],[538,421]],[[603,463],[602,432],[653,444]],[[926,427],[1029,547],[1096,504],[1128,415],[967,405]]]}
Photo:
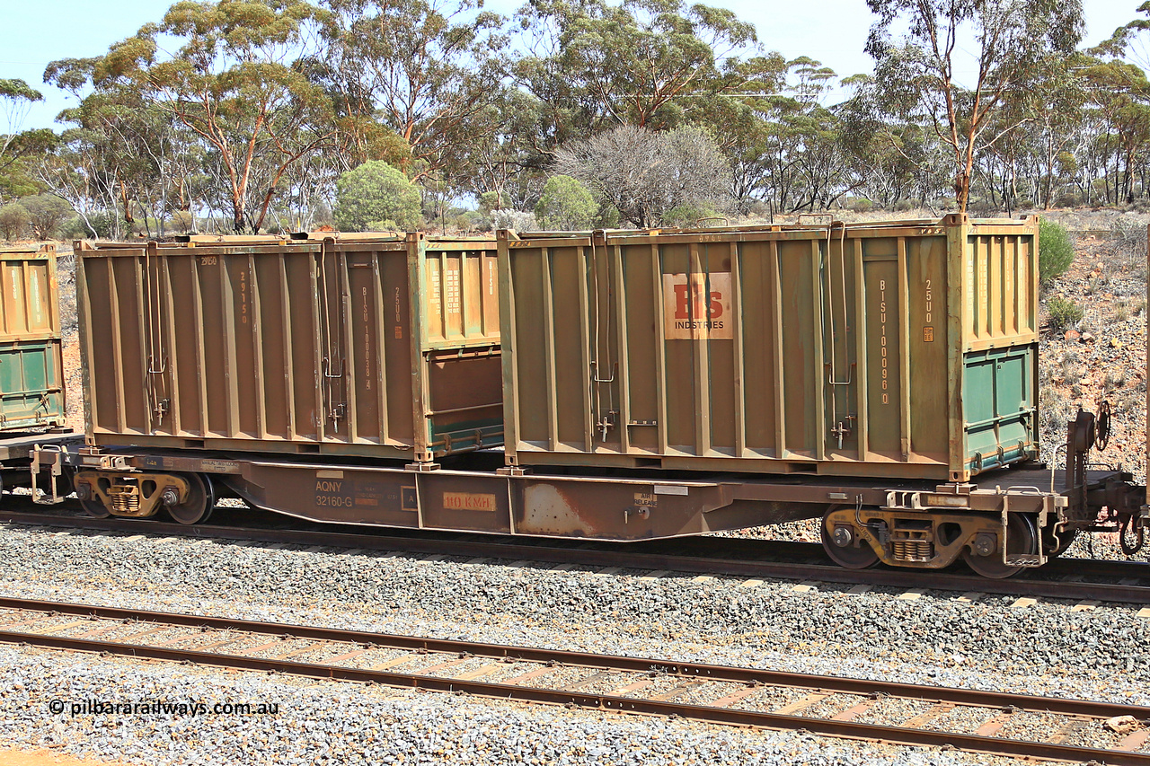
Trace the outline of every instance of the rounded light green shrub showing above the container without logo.
{"label": "rounded light green shrub showing above the container without logo", "polygon": [[420,190],[401,170],[370,160],[336,181],[336,227],[367,231],[381,224],[409,231],[422,224]]}

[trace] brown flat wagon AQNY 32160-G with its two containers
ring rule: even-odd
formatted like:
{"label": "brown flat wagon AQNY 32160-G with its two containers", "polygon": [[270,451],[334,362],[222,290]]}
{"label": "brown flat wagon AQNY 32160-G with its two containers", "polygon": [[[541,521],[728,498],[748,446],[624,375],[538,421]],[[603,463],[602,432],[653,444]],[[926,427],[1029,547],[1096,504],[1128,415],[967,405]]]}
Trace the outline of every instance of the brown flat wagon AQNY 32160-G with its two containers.
{"label": "brown flat wagon AQNY 32160-G with its two containers", "polygon": [[[1142,488],[1088,469],[1104,412],[1068,423],[1065,468],[1035,461],[1034,221],[498,240],[85,253],[90,445],[36,454],[46,501],[75,472],[91,513],[185,523],[216,489],[320,522],[610,541],[821,518],[843,566],[990,577],[1081,530],[1141,539]],[[450,406],[440,363],[469,370]],[[473,449],[500,426],[505,452]]]}

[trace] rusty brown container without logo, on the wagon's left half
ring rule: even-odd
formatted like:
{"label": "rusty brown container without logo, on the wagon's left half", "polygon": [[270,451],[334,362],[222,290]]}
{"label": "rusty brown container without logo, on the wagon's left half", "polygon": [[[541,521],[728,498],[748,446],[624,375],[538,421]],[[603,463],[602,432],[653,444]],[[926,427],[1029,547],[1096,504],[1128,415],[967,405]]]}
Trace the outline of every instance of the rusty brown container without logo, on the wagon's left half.
{"label": "rusty brown container without logo, on the wagon's left half", "polygon": [[421,233],[80,252],[87,436],[423,462],[501,444],[496,268],[493,240]]}

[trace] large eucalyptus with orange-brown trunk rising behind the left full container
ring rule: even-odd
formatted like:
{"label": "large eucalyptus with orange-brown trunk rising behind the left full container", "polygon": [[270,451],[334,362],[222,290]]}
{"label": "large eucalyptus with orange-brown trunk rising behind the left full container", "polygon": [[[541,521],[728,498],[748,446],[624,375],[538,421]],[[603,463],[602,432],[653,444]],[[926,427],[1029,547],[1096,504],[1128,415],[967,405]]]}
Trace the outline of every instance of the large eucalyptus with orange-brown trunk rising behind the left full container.
{"label": "large eucalyptus with orange-brown trunk rising behind the left full container", "polygon": [[296,66],[323,18],[304,0],[181,0],[105,55],[49,71],[133,93],[194,137],[231,227],[259,230],[289,170],[335,141],[330,99]]}

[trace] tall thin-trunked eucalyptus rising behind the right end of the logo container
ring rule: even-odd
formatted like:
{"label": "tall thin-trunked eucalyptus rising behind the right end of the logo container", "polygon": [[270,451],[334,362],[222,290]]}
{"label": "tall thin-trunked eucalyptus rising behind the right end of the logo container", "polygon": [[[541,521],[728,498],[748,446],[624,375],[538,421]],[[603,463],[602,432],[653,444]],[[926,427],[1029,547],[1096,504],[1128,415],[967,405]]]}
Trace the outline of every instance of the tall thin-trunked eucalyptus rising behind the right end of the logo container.
{"label": "tall thin-trunked eucalyptus rising behind the right end of the logo container", "polygon": [[[867,0],[867,5],[877,15],[866,44],[875,60],[875,104],[889,116],[929,125],[948,147],[954,196],[965,212],[979,154],[1029,118],[1021,116],[991,131],[995,116],[1026,97],[1038,68],[1073,54],[1084,26],[1082,2]],[[895,37],[892,30],[905,31]],[[971,85],[961,84],[956,74],[956,59],[966,49],[975,59]]]}

